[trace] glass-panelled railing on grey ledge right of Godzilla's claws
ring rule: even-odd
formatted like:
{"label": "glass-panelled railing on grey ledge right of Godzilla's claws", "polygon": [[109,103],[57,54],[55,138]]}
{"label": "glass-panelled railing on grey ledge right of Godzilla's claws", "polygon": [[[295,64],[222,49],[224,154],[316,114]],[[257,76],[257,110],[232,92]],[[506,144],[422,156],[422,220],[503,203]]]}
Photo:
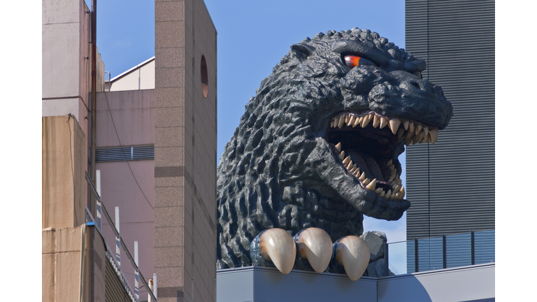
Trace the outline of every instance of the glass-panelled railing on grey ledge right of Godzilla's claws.
{"label": "glass-panelled railing on grey ledge right of Godzilla's claws", "polygon": [[395,275],[495,261],[495,230],[388,243],[388,266]]}

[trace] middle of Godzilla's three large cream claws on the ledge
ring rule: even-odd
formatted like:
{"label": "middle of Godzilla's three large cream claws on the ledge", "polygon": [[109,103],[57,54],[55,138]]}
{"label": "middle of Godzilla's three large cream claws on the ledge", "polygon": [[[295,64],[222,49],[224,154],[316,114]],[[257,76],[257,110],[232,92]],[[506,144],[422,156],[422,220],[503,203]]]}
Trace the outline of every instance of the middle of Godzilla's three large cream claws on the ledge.
{"label": "middle of Godzilla's three large cream claws on the ledge", "polygon": [[296,249],[317,273],[327,270],[332,258],[332,240],[326,231],[316,227],[301,231],[296,236]]}

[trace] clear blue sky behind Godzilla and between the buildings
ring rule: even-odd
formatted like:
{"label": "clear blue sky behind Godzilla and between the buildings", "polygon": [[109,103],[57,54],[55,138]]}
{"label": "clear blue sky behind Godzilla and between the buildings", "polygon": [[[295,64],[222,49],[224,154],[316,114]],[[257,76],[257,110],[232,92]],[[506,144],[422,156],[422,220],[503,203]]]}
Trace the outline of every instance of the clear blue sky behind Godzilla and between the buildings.
{"label": "clear blue sky behind Godzilla and between the buildings", "polygon": [[[403,0],[205,3],[218,33],[218,159],[245,104],[290,45],[318,32],[359,27],[405,46]],[[97,10],[97,46],[112,77],[155,55],[154,1],[99,1]],[[384,231],[389,242],[405,240],[406,215],[397,222],[366,217],[364,230]]]}

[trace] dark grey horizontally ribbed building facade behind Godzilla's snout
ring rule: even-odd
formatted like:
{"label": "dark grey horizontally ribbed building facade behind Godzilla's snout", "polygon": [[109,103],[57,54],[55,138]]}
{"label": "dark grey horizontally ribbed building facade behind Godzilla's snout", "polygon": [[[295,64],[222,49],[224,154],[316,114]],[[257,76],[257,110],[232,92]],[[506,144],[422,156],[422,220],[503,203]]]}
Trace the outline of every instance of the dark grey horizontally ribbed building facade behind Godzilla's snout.
{"label": "dark grey horizontally ribbed building facade behind Godzilla's snout", "polygon": [[407,0],[406,51],[454,111],[407,148],[407,239],[494,229],[494,1]]}

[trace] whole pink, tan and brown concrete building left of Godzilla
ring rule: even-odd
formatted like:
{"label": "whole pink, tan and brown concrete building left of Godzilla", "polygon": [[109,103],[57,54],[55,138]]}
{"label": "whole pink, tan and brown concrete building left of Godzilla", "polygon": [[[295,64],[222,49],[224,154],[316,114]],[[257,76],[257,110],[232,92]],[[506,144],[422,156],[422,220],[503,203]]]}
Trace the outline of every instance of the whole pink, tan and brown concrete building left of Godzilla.
{"label": "whole pink, tan and brown concrete building left of Godzilla", "polygon": [[[155,57],[106,85],[95,52],[93,163],[92,13],[83,0],[42,5],[43,301],[136,301],[131,259],[124,248],[115,259],[116,207],[159,301],[215,301],[216,31],[205,4],[155,1]],[[102,228],[92,187],[111,217],[101,213]]]}

